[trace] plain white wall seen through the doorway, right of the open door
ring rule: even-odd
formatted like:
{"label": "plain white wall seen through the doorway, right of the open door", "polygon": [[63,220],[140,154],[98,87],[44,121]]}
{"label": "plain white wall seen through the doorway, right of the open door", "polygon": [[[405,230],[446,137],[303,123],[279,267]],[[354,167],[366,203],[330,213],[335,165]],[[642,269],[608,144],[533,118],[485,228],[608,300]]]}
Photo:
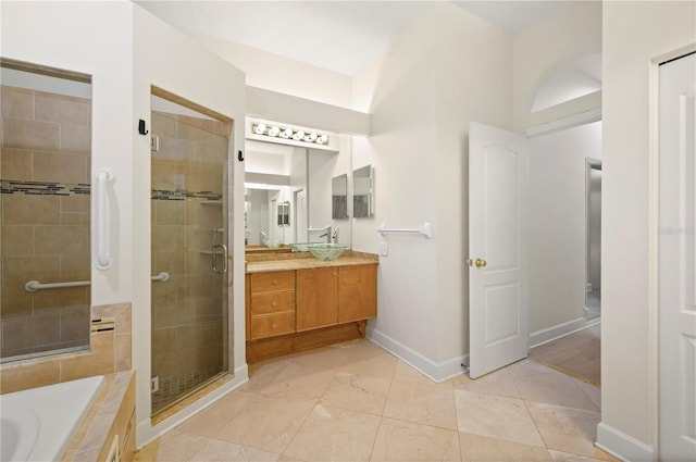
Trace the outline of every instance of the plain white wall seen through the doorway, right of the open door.
{"label": "plain white wall seen through the doorway, right of the open door", "polygon": [[532,138],[527,210],[531,345],[585,314],[585,159],[601,159],[601,122]]}

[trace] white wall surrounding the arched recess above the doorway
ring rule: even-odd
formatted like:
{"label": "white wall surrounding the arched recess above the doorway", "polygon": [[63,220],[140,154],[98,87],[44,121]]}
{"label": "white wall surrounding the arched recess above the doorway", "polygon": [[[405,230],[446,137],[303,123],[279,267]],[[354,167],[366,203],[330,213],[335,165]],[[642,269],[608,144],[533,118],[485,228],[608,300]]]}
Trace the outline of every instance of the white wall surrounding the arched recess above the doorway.
{"label": "white wall surrounding the arched recess above the doorway", "polygon": [[558,121],[601,107],[599,93],[531,113],[538,85],[560,63],[601,51],[601,2],[569,1],[514,35],[514,130]]}

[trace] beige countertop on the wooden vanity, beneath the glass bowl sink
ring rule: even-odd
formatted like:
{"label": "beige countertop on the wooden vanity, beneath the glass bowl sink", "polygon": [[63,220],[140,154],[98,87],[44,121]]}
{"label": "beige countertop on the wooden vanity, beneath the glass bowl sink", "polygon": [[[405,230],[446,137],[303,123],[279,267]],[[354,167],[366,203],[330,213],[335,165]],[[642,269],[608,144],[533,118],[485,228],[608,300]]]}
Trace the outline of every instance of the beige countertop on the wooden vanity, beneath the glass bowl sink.
{"label": "beige countertop on the wooden vanity, beneath the glass bowl sink", "polygon": [[254,255],[247,255],[246,271],[248,274],[265,273],[271,271],[291,271],[313,267],[380,263],[380,257],[377,254],[355,252],[350,250],[347,250],[343,255],[338,257],[338,259],[331,262],[316,260],[309,252],[276,254],[273,259],[256,259],[253,257]]}

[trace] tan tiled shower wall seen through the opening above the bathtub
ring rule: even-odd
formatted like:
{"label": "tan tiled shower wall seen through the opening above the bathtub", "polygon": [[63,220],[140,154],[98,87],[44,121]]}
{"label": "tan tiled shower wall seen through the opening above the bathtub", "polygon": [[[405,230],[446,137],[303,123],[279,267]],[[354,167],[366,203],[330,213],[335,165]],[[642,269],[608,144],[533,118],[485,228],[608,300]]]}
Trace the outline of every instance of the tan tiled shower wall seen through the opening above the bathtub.
{"label": "tan tiled shower wall seen through the opening above the bathtub", "polygon": [[26,291],[28,280],[89,280],[89,99],[2,86],[1,355],[87,346],[89,287]]}

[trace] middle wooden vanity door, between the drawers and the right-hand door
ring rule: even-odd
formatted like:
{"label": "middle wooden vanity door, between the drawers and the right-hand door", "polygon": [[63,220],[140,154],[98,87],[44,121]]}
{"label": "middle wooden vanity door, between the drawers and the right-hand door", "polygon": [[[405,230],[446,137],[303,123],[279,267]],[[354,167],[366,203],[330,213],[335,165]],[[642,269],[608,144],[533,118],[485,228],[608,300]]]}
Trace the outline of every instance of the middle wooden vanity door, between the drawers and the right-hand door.
{"label": "middle wooden vanity door, between the drawers and the right-hand door", "polygon": [[297,270],[297,330],[338,322],[337,269]]}

